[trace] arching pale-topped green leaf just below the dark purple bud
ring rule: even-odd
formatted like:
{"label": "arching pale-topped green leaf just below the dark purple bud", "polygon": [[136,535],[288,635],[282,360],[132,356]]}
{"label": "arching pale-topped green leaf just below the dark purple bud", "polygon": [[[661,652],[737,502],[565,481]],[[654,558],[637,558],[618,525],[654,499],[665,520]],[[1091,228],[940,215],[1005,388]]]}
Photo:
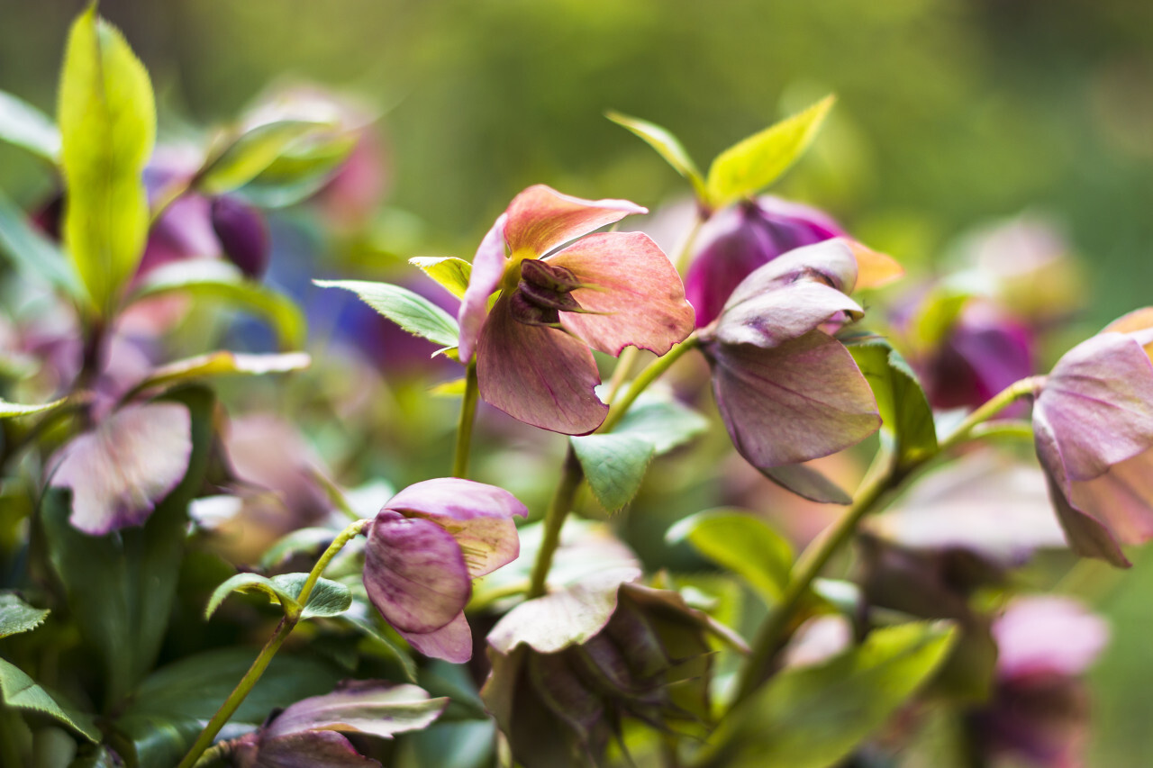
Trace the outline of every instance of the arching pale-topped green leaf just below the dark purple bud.
{"label": "arching pale-topped green leaf just below the dark purple bud", "polygon": [[227,262],[198,258],[152,270],[129,301],[169,293],[236,304],[267,319],[277,331],[281,348],[304,346],[308,327],[300,308],[284,294],[247,279]]}

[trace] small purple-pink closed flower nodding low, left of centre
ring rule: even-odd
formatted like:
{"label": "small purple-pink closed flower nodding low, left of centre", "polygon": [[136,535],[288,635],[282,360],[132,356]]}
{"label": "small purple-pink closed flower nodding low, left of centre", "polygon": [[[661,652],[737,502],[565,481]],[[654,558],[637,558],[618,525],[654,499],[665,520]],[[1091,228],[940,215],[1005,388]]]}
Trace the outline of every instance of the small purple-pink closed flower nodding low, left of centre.
{"label": "small purple-pink closed flower nodding low, left of centre", "polygon": [[389,624],[425,656],[473,656],[465,604],[472,580],[517,559],[513,517],[528,510],[508,491],[455,477],[400,491],[368,529],[364,588]]}

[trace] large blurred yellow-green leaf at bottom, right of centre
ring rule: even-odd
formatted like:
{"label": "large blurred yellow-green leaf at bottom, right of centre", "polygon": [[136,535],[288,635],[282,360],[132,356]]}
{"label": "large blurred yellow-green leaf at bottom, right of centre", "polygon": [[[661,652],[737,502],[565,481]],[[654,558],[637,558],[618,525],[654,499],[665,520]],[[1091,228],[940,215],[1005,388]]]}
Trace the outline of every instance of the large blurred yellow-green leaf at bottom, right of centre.
{"label": "large blurred yellow-green leaf at bottom, right of centre", "polygon": [[955,639],[942,624],[904,624],[822,664],[779,672],[714,733],[707,765],[836,765],[928,680]]}

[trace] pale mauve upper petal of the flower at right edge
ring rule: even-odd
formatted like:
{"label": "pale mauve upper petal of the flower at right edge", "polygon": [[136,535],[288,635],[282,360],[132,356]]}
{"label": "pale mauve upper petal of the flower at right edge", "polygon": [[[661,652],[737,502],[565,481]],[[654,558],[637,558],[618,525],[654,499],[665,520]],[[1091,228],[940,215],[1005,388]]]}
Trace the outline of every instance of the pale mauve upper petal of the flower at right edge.
{"label": "pale mauve upper petal of the flower at right edge", "polygon": [[1042,460],[1052,470],[1060,459],[1065,483],[1103,474],[1153,447],[1153,363],[1126,334],[1083,341],[1049,374],[1033,424],[1052,435],[1056,450]]}

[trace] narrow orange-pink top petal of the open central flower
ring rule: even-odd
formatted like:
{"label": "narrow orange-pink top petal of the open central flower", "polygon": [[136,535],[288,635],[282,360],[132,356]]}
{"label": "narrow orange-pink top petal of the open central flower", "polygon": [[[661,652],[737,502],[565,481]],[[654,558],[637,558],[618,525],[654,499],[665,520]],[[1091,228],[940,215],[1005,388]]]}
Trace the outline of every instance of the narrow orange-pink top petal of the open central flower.
{"label": "narrow orange-pink top petal of the open central flower", "polygon": [[630,213],[648,213],[648,209],[627,199],[581,199],[536,185],[517,195],[506,213],[508,248],[514,253],[523,249],[544,256]]}

